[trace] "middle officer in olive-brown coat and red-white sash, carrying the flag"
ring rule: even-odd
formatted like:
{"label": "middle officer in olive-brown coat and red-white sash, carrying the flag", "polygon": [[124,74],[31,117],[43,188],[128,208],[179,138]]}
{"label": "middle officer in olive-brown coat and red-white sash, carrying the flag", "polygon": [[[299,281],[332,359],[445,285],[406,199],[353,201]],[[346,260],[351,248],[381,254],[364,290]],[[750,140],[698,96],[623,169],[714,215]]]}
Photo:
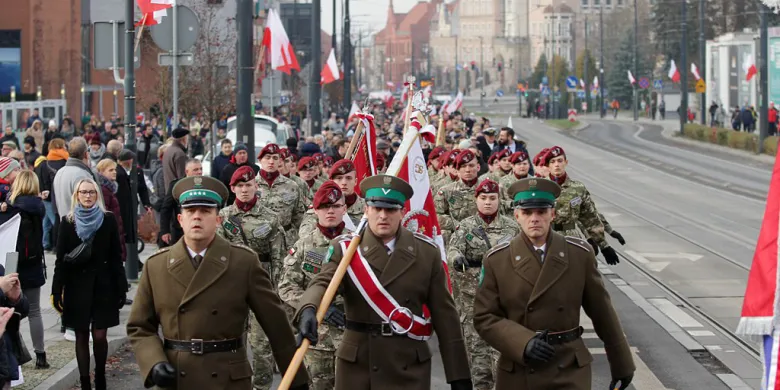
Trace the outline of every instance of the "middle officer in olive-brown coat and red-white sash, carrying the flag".
{"label": "middle officer in olive-brown coat and red-white sash, carrying the flag", "polygon": [[[335,388],[430,389],[426,340],[435,330],[447,382],[453,389],[471,389],[463,333],[439,248],[401,227],[412,187],[397,177],[376,175],[364,179],[360,191],[366,198],[368,227],[340,287],[347,320],[336,351]],[[322,271],[299,301],[298,329],[312,344],[318,341],[317,305],[351,239],[331,241]]]}

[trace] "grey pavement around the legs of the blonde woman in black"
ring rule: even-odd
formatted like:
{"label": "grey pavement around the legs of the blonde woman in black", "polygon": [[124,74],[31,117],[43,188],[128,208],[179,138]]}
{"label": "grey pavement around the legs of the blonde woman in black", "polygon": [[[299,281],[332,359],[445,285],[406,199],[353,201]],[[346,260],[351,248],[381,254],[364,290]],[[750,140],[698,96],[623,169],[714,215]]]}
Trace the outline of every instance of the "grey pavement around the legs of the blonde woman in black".
{"label": "grey pavement around the legs of the blonde woman in black", "polygon": [[[144,251],[139,254],[141,259],[146,259],[157,250],[155,245],[147,244]],[[55,255],[46,254],[47,280],[41,287],[41,316],[43,317],[44,341],[46,357],[51,365],[47,370],[35,369],[35,354],[32,339],[30,338],[30,323],[27,319],[22,321],[21,335],[33,360],[22,366],[24,383],[14,387],[21,390],[67,390],[78,381],[78,365],[76,363],[76,345],[72,341],[65,340],[65,335],[60,333],[60,316],[51,306],[51,282],[54,274]],[[135,285],[127,293],[128,298],[135,296]],[[120,325],[108,330],[108,355],[113,355],[127,341],[125,324],[130,314],[130,306],[122,308],[119,316]],[[91,360],[94,367],[95,361]]]}

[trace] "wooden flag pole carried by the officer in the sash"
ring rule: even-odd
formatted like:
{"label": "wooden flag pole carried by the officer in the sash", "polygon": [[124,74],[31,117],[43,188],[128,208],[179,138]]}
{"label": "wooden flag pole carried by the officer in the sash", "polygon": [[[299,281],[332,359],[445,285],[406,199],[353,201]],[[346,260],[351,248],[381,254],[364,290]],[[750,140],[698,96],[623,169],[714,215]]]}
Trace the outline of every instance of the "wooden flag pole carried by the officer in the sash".
{"label": "wooden flag pole carried by the officer in the sash", "polygon": [[[403,161],[406,159],[406,156],[409,154],[409,150],[411,150],[412,145],[414,145],[414,142],[417,141],[417,137],[419,137],[419,135],[420,133],[417,131],[417,129],[408,129],[404,136],[403,142],[401,142],[401,146],[398,148],[398,152],[393,158],[393,161],[390,163],[390,166],[387,168],[388,175],[398,176],[398,173],[403,166]],[[336,297],[336,292],[341,285],[341,281],[344,279],[344,275],[347,273],[347,268],[349,268],[349,264],[352,262],[352,258],[354,257],[358,246],[360,245],[360,235],[366,229],[367,224],[368,219],[366,218],[366,215],[363,214],[363,219],[360,220],[360,224],[358,224],[358,227],[352,237],[352,241],[349,243],[347,251],[341,258],[339,266],[336,268],[336,272],[333,274],[333,278],[331,278],[330,284],[328,284],[328,288],[325,290],[325,294],[323,294],[322,299],[320,300],[320,305],[317,307],[318,325],[322,323],[322,320],[325,318],[325,313],[328,311],[331,302],[333,302],[333,298]],[[298,349],[295,351],[295,355],[290,361],[290,365],[287,366],[287,371],[285,371],[284,377],[282,377],[282,382],[279,383],[279,387],[277,388],[278,390],[288,390],[290,388],[293,379],[295,379],[295,375],[298,373],[298,368],[301,366],[301,363],[303,363],[303,357],[309,350],[309,345],[309,339],[304,338],[301,342],[301,346],[298,347]]]}

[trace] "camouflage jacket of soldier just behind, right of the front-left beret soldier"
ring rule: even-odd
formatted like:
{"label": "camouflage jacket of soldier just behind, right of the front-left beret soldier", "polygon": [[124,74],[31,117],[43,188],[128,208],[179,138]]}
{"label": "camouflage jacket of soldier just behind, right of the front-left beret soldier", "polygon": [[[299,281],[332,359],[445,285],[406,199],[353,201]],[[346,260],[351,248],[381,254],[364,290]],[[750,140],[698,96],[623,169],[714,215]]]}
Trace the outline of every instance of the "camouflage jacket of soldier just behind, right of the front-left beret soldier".
{"label": "camouflage jacket of soldier just behind, right of the front-left beret soldier", "polygon": [[257,201],[279,216],[284,227],[285,241],[290,243],[297,241],[298,228],[306,212],[305,195],[292,179],[282,175],[279,175],[270,187],[260,175],[257,175],[256,181],[257,194],[260,197]]}

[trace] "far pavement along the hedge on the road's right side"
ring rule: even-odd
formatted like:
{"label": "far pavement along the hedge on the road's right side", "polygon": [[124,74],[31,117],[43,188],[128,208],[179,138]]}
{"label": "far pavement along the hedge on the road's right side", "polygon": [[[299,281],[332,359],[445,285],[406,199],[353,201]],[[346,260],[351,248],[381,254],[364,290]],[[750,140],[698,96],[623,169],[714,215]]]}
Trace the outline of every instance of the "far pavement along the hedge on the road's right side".
{"label": "far pavement along the hedge on the road's right side", "polygon": [[581,122],[584,121],[585,123],[605,121],[605,122],[635,123],[638,125],[643,125],[643,124],[656,125],[663,128],[663,132],[661,133],[661,135],[663,135],[664,138],[671,140],[675,143],[678,143],[680,145],[689,145],[700,149],[718,151],[733,156],[748,158],[765,164],[773,164],[775,162],[775,157],[766,154],[755,154],[755,153],[748,152],[746,150],[733,149],[727,146],[716,145],[709,142],[700,142],[700,141],[695,141],[692,139],[680,137],[679,136],[680,121],[677,119],[652,120],[648,118],[639,117],[639,120],[634,122],[633,113],[624,112],[624,113],[619,113],[616,119],[612,118],[612,115],[608,115],[604,119],[601,119],[597,113],[594,113],[588,115],[581,115],[579,116],[578,120],[580,120]]}

